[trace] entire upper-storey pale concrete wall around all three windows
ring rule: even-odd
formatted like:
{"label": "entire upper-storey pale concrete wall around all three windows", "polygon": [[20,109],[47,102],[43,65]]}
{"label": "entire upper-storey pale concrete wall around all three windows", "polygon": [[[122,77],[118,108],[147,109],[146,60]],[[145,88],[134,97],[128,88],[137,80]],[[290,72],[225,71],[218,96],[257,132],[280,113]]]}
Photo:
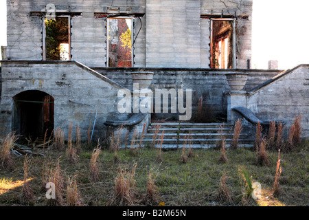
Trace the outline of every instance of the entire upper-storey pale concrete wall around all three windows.
{"label": "entire upper-storey pale concrete wall around all three windows", "polygon": [[30,12],[40,12],[48,3],[54,3],[57,10],[82,13],[71,19],[71,59],[90,67],[106,66],[106,19],[93,15],[107,13],[108,8],[144,14],[141,23],[135,18],[134,67],[209,68],[209,20],[201,15],[222,11],[249,15],[248,21],[238,21],[242,34],[237,43],[237,68],[247,68],[251,59],[252,0],[7,0],[8,58],[43,59],[43,22]]}

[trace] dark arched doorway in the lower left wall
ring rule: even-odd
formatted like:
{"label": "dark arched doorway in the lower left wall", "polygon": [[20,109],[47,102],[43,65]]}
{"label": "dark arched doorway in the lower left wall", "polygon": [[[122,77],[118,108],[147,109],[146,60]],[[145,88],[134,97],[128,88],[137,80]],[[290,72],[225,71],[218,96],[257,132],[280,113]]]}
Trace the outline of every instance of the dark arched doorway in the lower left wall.
{"label": "dark arched doorway in the lower left wall", "polygon": [[23,91],[13,97],[13,124],[12,130],[23,137],[36,140],[47,137],[54,130],[54,98],[49,94],[30,90]]}

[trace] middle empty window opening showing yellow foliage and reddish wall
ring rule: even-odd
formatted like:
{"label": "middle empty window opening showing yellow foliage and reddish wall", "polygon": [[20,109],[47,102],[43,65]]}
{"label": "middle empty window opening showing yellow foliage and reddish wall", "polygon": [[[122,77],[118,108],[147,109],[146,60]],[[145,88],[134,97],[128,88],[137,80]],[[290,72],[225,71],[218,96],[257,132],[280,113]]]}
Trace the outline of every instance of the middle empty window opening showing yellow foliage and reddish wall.
{"label": "middle empty window opening showing yellow foliage and reddish wall", "polygon": [[133,67],[133,19],[107,20],[108,67]]}

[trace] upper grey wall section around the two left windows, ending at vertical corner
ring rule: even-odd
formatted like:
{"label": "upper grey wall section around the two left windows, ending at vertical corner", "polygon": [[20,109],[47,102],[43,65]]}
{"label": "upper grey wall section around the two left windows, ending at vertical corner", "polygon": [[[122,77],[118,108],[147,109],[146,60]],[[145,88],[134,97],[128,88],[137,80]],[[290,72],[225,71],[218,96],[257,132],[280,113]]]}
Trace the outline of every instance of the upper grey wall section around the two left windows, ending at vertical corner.
{"label": "upper grey wall section around the two left windows, ending at vertical corner", "polygon": [[[7,0],[8,5],[8,58],[10,60],[43,59],[43,21],[41,16],[30,16],[30,12],[41,12],[49,3],[57,11],[80,12],[71,17],[72,61],[89,66],[106,66],[106,19],[94,18],[95,12],[107,13],[108,8],[130,8],[132,13],[145,13],[145,0],[135,1],[29,1]],[[141,27],[135,19],[134,33]],[[145,18],[141,18],[145,23]],[[145,25],[139,33],[135,47],[135,66],[145,66]]]}

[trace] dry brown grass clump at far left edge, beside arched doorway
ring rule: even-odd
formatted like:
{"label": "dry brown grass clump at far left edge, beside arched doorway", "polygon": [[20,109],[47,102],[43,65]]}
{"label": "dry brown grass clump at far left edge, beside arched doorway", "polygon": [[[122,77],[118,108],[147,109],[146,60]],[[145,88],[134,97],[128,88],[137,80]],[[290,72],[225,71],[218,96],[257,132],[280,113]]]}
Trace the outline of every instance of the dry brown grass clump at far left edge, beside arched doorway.
{"label": "dry brown grass clump at far left edge, beside arched doorway", "polygon": [[10,151],[16,143],[18,137],[15,133],[9,133],[0,146],[0,162],[4,169],[10,169],[13,166],[13,159]]}

